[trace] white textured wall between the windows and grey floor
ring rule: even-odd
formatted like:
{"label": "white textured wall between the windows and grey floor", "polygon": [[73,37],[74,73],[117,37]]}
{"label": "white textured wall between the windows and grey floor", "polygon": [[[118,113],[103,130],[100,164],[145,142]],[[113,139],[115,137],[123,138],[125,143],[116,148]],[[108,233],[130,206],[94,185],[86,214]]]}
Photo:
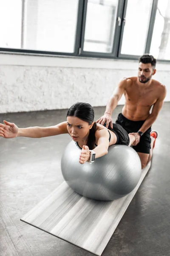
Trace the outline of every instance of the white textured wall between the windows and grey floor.
{"label": "white textured wall between the windows and grey floor", "polygon": [[[0,113],[64,109],[77,101],[105,106],[119,80],[136,76],[137,68],[138,61],[0,54]],[[167,86],[170,101],[170,63],[158,63],[154,78]]]}

